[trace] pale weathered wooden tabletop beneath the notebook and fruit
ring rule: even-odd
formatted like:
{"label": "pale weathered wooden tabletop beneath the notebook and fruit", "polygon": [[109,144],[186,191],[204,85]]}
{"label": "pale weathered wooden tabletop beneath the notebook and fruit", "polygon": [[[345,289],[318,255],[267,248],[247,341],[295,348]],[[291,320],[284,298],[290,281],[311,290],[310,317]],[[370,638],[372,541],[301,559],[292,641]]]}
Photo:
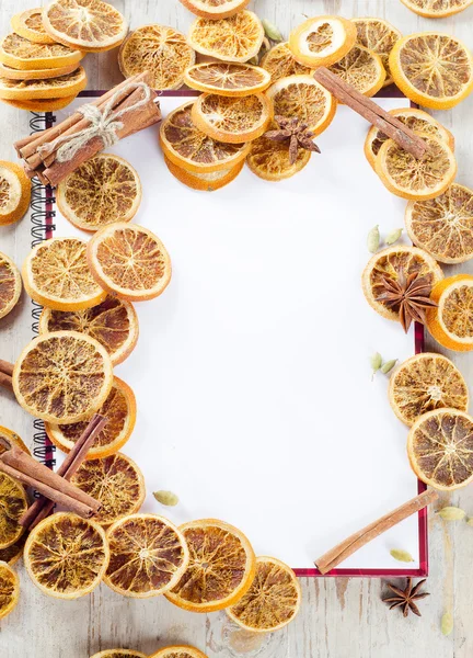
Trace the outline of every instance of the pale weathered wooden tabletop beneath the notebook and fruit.
{"label": "pale weathered wooden tabletop beneath the notebook and fruit", "polygon": [[[160,22],[186,31],[192,16],[177,0],[115,0],[132,27]],[[28,0],[1,0],[0,34],[9,31],[10,16],[33,5]],[[473,49],[473,9],[439,21],[425,20],[407,10],[400,0],[255,0],[259,16],[279,26],[285,35],[304,15],[341,13],[384,16],[404,34],[437,30],[455,34]],[[120,80],[116,53],[88,55],[84,66],[90,88],[106,89]],[[457,139],[459,182],[473,185],[472,131],[473,95],[459,107],[439,113]],[[27,133],[28,115],[7,105],[0,109],[0,159],[14,160],[12,141]],[[401,219],[401,218],[400,218]],[[25,218],[0,231],[0,249],[21,263],[30,249],[30,222]],[[463,271],[473,271],[464,265]],[[0,326],[0,355],[13,361],[31,339],[31,303],[23,298],[19,308]],[[472,356],[455,359],[466,378],[472,374]],[[0,393],[0,424],[12,427],[31,440],[31,418],[8,394]],[[445,497],[473,515],[473,487]],[[316,513],[308,522],[316,524]],[[74,602],[44,597],[28,581],[22,567],[21,603],[0,622],[2,658],[88,658],[112,647],[136,648],[146,654],[173,643],[197,646],[210,658],[259,656],[259,658],[471,658],[473,656],[473,527],[465,523],[446,524],[430,515],[431,597],[422,601],[423,619],[404,620],[389,612],[380,601],[382,581],[373,579],[302,579],[303,608],[297,621],[261,647],[243,646],[238,653],[239,634],[231,635],[224,615],[196,615],[180,611],[163,598],[134,601],[120,598],[106,587]],[[446,610],[454,615],[454,631],[440,633]],[[228,635],[230,634],[230,638]],[[222,640],[222,636],[223,640]],[[226,647],[223,646],[226,645]],[[240,649],[242,647],[240,646]],[[249,650],[252,649],[250,654]]]}

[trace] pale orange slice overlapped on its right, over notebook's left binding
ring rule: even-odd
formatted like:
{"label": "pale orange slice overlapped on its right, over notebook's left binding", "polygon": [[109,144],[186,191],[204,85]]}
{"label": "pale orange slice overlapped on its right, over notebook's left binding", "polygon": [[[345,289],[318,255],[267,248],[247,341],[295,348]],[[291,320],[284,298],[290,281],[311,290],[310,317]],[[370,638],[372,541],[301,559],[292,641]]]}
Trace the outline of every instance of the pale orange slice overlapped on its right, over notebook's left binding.
{"label": "pale orange slice overlapped on its right, over notebook's left binding", "polygon": [[53,238],[32,249],[22,268],[30,297],[56,310],[83,310],[103,302],[106,292],[90,273],[85,251],[79,238]]}

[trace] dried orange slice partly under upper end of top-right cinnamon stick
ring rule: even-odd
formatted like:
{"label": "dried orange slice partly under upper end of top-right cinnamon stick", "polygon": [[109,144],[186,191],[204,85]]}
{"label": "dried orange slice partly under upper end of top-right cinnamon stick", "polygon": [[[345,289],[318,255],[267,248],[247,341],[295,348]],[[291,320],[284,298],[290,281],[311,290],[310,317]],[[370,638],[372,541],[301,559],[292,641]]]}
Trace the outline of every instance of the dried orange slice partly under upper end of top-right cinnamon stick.
{"label": "dried orange slice partly under upper end of top-right cinnamon stick", "polygon": [[330,70],[367,97],[378,93],[387,76],[381,57],[359,45],[333,64]]}

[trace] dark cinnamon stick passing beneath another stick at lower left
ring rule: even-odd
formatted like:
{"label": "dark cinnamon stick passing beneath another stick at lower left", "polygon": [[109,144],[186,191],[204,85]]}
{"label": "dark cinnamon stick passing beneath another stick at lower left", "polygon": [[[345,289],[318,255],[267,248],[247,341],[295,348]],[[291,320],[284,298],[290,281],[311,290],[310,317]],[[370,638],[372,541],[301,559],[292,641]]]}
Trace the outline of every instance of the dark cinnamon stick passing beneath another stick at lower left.
{"label": "dark cinnamon stick passing beneath another stick at lower left", "polygon": [[[80,465],[86,457],[89,449],[95,441],[95,438],[103,430],[107,423],[107,418],[100,413],[94,413],[91,418],[85,430],[77,440],[74,446],[67,455],[62,464],[57,469],[57,475],[70,480],[71,477],[78,472]],[[55,503],[48,500],[44,496],[41,496],[36,501],[26,510],[26,512],[20,518],[20,525],[33,530],[43,519],[49,515]]]}

